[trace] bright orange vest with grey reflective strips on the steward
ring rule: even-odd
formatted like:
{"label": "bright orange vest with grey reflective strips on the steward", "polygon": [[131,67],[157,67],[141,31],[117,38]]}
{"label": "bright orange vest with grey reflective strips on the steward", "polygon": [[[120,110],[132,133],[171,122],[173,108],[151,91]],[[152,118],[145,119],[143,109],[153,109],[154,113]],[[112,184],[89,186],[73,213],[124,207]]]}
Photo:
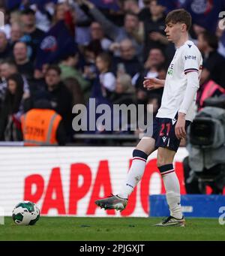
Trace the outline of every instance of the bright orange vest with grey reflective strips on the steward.
{"label": "bright orange vest with grey reflective strips on the steward", "polygon": [[21,117],[24,146],[58,145],[62,117],[50,109],[34,108]]}

